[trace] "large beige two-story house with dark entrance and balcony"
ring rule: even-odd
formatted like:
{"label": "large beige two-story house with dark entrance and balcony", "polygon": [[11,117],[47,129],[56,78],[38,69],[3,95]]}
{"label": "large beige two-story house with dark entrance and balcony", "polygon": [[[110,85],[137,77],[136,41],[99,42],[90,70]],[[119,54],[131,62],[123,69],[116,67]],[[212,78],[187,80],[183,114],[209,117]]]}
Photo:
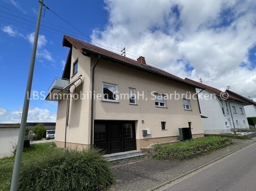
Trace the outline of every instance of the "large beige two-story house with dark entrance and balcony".
{"label": "large beige two-story house with dark entrance and balcony", "polygon": [[196,94],[198,85],[149,66],[144,57],[135,61],[69,36],[63,46],[70,49],[63,76],[46,98],[58,101],[58,147],[118,153],[177,140],[179,128],[204,136],[198,100],[170,98]]}

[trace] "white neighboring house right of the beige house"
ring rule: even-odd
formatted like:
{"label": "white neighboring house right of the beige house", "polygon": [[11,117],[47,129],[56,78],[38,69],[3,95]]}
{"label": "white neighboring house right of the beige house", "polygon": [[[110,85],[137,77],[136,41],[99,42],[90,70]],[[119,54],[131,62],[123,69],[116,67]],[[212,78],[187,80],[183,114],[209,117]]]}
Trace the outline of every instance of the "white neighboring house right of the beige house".
{"label": "white neighboring house right of the beige house", "polygon": [[228,98],[221,98],[222,91],[186,78],[190,83],[201,85],[197,89],[202,124],[205,134],[220,134],[231,132],[231,129],[248,128],[244,106],[250,105],[247,100],[229,92]]}

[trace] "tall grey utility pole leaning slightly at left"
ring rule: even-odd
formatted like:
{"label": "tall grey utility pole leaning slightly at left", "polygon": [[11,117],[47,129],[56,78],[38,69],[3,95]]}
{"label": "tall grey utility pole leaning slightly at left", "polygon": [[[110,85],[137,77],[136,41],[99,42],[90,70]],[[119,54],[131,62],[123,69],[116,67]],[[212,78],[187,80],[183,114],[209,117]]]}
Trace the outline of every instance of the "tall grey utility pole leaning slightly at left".
{"label": "tall grey utility pole leaning slightly at left", "polygon": [[10,191],[18,190],[19,173],[20,173],[21,158],[22,158],[24,138],[25,138],[25,128],[26,128],[26,122],[27,122],[31,86],[32,86],[32,80],[33,80],[37,41],[38,41],[39,28],[40,28],[40,22],[41,22],[42,6],[43,6],[43,0],[40,0]]}

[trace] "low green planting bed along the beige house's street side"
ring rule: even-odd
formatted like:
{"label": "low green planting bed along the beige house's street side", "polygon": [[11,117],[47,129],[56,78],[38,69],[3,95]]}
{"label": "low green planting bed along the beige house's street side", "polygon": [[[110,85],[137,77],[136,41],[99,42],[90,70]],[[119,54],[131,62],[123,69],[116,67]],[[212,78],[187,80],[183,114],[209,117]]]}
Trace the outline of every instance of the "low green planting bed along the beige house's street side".
{"label": "low green planting bed along the beige house's street side", "polygon": [[217,136],[196,138],[169,145],[157,144],[154,145],[156,153],[153,158],[157,160],[191,159],[231,144],[230,138]]}

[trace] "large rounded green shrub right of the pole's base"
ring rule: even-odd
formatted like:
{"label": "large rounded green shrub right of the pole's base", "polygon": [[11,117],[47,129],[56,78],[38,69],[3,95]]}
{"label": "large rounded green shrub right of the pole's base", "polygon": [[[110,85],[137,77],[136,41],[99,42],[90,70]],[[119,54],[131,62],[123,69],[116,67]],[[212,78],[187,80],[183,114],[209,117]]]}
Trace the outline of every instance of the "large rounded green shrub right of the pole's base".
{"label": "large rounded green shrub right of the pole's base", "polygon": [[54,149],[22,166],[19,190],[96,191],[113,182],[109,163],[98,150]]}

